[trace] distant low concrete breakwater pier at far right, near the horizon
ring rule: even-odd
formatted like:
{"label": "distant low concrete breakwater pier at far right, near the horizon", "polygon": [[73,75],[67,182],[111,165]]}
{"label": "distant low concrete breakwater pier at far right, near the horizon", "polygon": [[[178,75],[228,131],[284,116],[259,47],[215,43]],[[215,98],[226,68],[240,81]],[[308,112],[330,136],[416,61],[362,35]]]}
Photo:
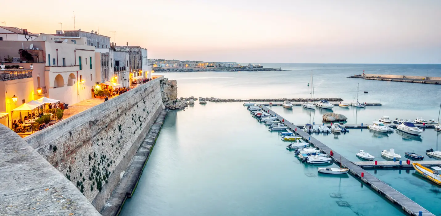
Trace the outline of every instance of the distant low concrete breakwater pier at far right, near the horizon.
{"label": "distant low concrete breakwater pier at far right, near the horizon", "polygon": [[348,78],[363,78],[367,80],[381,80],[391,82],[412,82],[422,84],[441,84],[441,77],[405,76],[390,74],[355,74]]}

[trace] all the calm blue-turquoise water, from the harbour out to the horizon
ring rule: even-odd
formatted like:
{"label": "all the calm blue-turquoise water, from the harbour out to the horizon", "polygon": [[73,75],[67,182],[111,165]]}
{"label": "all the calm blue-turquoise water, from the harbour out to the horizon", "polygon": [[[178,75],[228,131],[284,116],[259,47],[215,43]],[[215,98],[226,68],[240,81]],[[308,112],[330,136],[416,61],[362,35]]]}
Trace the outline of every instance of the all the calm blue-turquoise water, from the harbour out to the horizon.
{"label": "all the calm blue-turquoise water, from the harbour out to the horizon", "polygon": [[[179,97],[309,98],[307,83],[313,70],[315,97],[341,97],[352,102],[359,83],[360,91],[369,91],[360,94],[359,101],[384,104],[366,109],[334,108],[333,112],[348,117],[348,123],[371,123],[381,115],[408,119],[438,116],[440,86],[346,77],[361,74],[363,69],[373,74],[407,71],[409,75],[441,76],[441,65],[263,65],[292,71],[163,74],[178,80]],[[317,166],[300,163],[285,149],[288,144],[258,123],[241,104],[209,102],[169,112],[122,215],[404,215],[357,179],[320,175]],[[301,107],[273,109],[297,124],[321,123],[325,113]],[[339,136],[314,136],[349,159],[359,160],[355,153],[360,149],[377,157],[389,148],[402,155],[404,151],[424,154],[440,144],[438,135],[432,129],[418,138],[354,129]],[[439,214],[438,207],[433,207],[439,201],[437,190],[431,190],[430,182],[405,172],[377,171],[376,175]],[[339,206],[342,202],[350,206]]]}

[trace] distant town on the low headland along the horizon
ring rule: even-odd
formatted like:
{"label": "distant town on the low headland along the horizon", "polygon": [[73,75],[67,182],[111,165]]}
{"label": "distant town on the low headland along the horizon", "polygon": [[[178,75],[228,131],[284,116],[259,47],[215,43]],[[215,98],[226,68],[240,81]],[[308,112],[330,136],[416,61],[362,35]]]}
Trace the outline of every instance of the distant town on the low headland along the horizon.
{"label": "distant town on the low headland along the horizon", "polygon": [[181,60],[149,60],[155,72],[191,72],[191,71],[282,71],[281,68],[264,68],[260,64],[241,65],[229,62],[202,62]]}

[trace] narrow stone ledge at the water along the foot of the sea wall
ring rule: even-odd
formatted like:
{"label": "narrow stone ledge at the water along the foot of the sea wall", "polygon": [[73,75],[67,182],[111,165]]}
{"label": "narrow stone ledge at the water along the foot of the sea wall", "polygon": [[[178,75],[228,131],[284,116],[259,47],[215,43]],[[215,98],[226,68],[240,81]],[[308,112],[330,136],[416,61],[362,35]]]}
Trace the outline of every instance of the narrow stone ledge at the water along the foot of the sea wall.
{"label": "narrow stone ledge at the water along the foot of the sea wall", "polygon": [[131,198],[133,193],[135,193],[139,178],[141,178],[142,171],[144,170],[147,160],[149,159],[150,150],[153,148],[153,145],[155,145],[157,136],[161,130],[167,113],[168,109],[163,109],[161,114],[157,117],[155,123],[153,123],[149,133],[131,160],[129,167],[126,169],[126,171],[124,171],[123,178],[121,178],[118,186],[116,186],[115,190],[113,190],[112,194],[108,198],[104,209],[102,209],[101,214],[103,216],[118,215],[123,208],[126,199]]}

